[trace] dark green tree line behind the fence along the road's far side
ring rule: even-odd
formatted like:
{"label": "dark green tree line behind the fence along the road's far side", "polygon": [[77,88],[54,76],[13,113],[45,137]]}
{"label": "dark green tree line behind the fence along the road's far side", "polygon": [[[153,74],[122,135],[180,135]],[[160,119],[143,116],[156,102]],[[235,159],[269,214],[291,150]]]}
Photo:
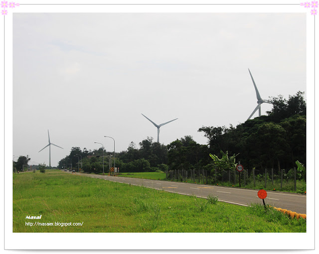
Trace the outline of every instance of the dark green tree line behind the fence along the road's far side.
{"label": "dark green tree line behind the fence along the road's far side", "polygon": [[[248,120],[236,127],[205,127],[198,129],[207,138],[207,144],[199,144],[192,136],[178,138],[168,145],[154,142],[147,137],[139,143],[132,141],[126,151],[115,154],[115,167],[120,172],[150,172],[167,170],[212,171],[214,160],[209,154],[222,157],[226,152],[236,155],[246,169],[273,168],[279,174],[281,168],[296,167],[296,161],[306,165],[306,102],[304,93],[298,92],[289,99],[281,95],[272,97],[273,109],[267,116]],[[78,157],[82,160],[79,160]],[[81,156],[79,156],[81,155]],[[103,171],[102,148],[83,151],[72,147],[68,156],[60,160],[59,168],[72,166],[85,172]],[[104,169],[114,165],[112,151],[104,150]]]}

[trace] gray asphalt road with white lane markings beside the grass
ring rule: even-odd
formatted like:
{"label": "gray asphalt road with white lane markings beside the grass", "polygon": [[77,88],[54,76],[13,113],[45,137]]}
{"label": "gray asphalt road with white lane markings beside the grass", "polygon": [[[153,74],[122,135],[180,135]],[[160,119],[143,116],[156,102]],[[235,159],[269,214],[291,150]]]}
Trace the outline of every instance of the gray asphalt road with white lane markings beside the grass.
{"label": "gray asphalt road with white lane markings beside the grass", "polygon": [[[67,171],[67,173],[71,172]],[[183,195],[195,195],[202,198],[207,198],[208,195],[218,196],[219,201],[241,206],[249,206],[251,203],[263,204],[262,200],[257,195],[258,190],[252,189],[222,187],[216,185],[201,185],[194,183],[169,182],[129,177],[114,177],[107,175],[103,176],[82,173],[75,174],[86,177],[105,179],[113,182],[144,186],[152,189],[164,190]],[[277,208],[291,210],[300,214],[306,214],[306,199],[306,195],[303,194],[267,191],[265,203]]]}

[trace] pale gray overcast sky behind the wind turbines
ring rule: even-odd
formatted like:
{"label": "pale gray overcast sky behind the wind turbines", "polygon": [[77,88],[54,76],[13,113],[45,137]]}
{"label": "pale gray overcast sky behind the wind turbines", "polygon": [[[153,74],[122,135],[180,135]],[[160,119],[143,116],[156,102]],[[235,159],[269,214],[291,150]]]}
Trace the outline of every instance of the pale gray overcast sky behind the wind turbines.
{"label": "pale gray overcast sky behind the wind turbines", "polygon": [[[306,92],[306,13],[14,13],[13,155],[207,139],[263,99]],[[262,114],[271,110],[262,105]],[[258,116],[258,112],[254,117]],[[16,160],[16,158],[15,158]]]}

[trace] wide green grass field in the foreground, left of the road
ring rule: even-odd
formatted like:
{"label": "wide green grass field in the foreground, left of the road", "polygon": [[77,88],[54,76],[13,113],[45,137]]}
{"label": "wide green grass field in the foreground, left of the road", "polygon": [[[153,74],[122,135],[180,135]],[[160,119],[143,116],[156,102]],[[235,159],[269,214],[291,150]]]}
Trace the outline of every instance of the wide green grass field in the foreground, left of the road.
{"label": "wide green grass field in the foreground, left of the road", "polygon": [[[26,216],[42,215],[40,220]],[[26,226],[26,222],[83,226]],[[106,181],[60,170],[13,174],[13,232],[306,232],[261,205],[250,207]]]}

